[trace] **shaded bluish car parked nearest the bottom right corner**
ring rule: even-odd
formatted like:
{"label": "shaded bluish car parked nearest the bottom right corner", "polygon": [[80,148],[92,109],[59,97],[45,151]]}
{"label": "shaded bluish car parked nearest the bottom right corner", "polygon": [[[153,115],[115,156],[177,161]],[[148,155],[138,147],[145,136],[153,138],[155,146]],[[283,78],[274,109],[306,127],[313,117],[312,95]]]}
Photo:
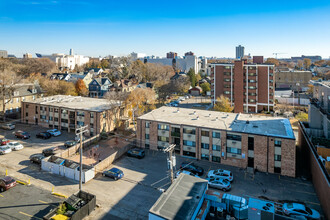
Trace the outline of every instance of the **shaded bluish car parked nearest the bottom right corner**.
{"label": "shaded bluish car parked nearest the bottom right corner", "polygon": [[284,203],[282,206],[285,215],[306,217],[307,219],[320,219],[320,213],[300,203]]}

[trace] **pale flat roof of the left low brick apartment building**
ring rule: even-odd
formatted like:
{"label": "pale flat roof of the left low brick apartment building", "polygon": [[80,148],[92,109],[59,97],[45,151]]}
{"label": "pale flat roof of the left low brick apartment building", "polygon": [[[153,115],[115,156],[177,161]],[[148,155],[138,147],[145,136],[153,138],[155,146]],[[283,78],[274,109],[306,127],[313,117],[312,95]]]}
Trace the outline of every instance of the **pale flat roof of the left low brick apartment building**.
{"label": "pale flat roof of the left low brick apartment building", "polygon": [[85,110],[93,112],[103,112],[111,109],[113,106],[120,105],[120,101],[89,98],[70,95],[55,95],[38,98],[36,100],[25,101],[24,103],[35,103],[46,106],[61,107],[75,110]]}

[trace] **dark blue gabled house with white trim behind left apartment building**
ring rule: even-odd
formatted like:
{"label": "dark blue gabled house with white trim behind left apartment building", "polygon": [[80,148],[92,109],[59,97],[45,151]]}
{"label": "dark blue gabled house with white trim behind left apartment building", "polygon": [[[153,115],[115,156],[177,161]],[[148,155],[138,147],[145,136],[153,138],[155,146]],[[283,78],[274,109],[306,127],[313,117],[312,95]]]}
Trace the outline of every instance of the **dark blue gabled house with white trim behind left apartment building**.
{"label": "dark blue gabled house with white trim behind left apartment building", "polygon": [[94,98],[102,98],[111,88],[112,82],[108,77],[93,79],[89,85],[89,96]]}

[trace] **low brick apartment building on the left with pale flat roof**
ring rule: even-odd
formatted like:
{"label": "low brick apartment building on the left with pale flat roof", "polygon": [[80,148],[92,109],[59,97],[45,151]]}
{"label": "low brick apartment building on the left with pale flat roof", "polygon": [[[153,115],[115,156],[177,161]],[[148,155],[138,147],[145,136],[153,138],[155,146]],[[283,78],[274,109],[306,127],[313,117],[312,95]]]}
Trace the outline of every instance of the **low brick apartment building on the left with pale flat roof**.
{"label": "low brick apartment building on the left with pale flat roof", "polygon": [[124,111],[118,101],[80,96],[56,95],[23,101],[21,120],[47,128],[74,132],[79,126],[88,125],[89,134],[113,131],[116,121]]}

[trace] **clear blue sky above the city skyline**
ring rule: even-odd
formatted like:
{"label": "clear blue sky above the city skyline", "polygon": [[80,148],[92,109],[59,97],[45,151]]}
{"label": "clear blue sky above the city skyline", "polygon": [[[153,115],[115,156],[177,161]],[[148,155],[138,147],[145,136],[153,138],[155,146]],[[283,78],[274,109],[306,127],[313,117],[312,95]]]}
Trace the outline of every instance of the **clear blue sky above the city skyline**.
{"label": "clear blue sky above the city skyline", "polygon": [[330,56],[329,0],[0,0],[0,50],[278,58]]}

